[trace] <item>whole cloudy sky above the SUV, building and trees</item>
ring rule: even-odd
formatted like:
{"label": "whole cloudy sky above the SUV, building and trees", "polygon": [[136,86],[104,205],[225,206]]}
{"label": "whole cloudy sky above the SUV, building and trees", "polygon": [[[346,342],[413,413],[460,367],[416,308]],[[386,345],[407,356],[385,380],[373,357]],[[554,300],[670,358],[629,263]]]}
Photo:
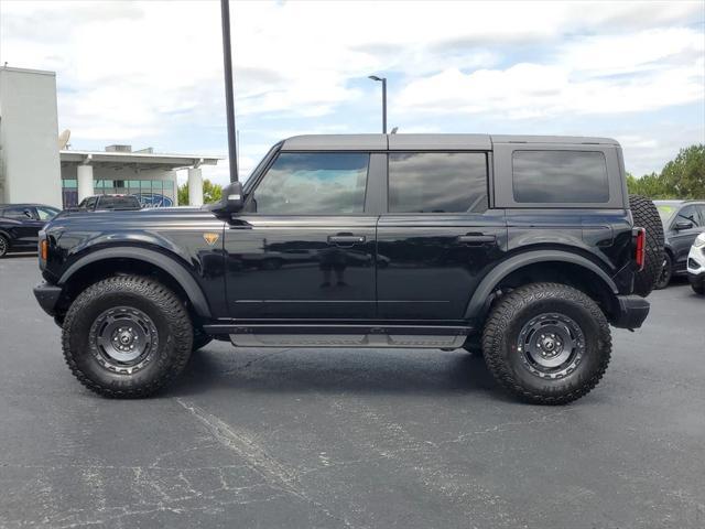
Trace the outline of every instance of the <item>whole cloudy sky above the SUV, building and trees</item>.
{"label": "whole cloudy sky above the SUV, building and trees", "polygon": [[[636,175],[705,143],[703,0],[230,6],[242,176],[291,136],[381,131],[370,74],[399,133],[611,137]],[[215,0],[0,0],[0,64],[56,72],[74,149],[227,159],[221,46]]]}

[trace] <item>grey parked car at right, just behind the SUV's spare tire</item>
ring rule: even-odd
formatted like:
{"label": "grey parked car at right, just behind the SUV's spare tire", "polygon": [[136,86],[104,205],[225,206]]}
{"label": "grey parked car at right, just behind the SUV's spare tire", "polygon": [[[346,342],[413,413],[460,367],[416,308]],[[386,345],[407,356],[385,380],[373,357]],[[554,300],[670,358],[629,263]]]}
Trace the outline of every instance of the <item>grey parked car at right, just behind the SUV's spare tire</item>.
{"label": "grey parked car at right, just behind the SUV's spare tire", "polygon": [[664,252],[655,289],[665,289],[673,276],[687,273],[687,253],[705,231],[705,201],[653,201],[663,223]]}

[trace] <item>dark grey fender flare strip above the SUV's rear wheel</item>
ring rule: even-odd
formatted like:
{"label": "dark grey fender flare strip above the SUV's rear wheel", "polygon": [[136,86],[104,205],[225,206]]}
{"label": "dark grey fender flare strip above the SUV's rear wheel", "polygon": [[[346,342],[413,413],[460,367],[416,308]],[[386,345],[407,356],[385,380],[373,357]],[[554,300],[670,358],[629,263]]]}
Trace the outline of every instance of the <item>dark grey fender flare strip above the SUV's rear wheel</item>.
{"label": "dark grey fender flare strip above the SUV's rear wheel", "polygon": [[473,319],[477,317],[478,315],[482,315],[488,309],[487,302],[490,298],[490,294],[492,293],[497,284],[499,284],[499,282],[511,272],[529,264],[535,264],[536,262],[555,261],[570,262],[572,264],[584,267],[599,277],[615,295],[619,293],[617,285],[607,274],[607,272],[605,272],[605,270],[603,270],[589,259],[576,253],[570,253],[567,251],[561,250],[533,250],[510,257],[506,261],[502,261],[497,267],[492,268],[492,270],[487,276],[485,276],[482,281],[480,281],[480,284],[478,284],[477,289],[475,289],[475,293],[473,294],[473,298],[470,298],[470,301],[467,304],[467,309],[465,310],[465,317]]}

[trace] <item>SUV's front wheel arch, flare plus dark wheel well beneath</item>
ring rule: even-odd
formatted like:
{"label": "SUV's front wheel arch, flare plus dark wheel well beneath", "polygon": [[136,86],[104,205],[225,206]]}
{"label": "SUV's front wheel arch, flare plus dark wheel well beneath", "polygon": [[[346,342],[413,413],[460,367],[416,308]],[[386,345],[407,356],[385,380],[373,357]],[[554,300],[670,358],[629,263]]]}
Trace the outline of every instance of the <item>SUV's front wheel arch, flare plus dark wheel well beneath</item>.
{"label": "SUV's front wheel arch, flare plus dark wheel well beneath", "polygon": [[66,269],[58,285],[69,291],[72,285],[84,285],[93,282],[94,278],[102,279],[118,272],[131,273],[133,270],[159,277],[191,303],[197,316],[212,317],[208,301],[188,270],[176,259],[142,247],[112,247],[90,252]]}

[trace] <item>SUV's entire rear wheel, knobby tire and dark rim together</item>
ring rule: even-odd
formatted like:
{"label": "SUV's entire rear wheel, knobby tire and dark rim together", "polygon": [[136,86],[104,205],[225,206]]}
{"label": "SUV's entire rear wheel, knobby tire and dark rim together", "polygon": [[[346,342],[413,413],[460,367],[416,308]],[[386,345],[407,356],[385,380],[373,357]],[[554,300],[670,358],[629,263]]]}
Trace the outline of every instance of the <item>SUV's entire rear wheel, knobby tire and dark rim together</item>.
{"label": "SUV's entire rear wheel, knobby tire and dark rim together", "polygon": [[495,379],[514,396],[564,404],[599,382],[611,335],[605,315],[585,293],[534,283],[513,290],[492,310],[482,354]]}

